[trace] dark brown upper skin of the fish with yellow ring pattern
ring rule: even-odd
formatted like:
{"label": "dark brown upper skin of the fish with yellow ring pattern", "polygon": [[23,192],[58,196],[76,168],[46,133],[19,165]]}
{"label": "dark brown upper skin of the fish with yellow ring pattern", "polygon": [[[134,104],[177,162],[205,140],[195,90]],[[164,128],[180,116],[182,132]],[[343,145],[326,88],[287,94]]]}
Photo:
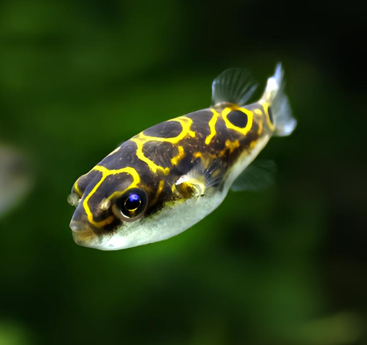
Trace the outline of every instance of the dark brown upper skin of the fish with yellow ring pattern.
{"label": "dark brown upper skin of the fish with yellow ring pattern", "polygon": [[189,197],[189,182],[179,189],[175,183],[196,165],[206,169],[214,181],[211,186],[220,189],[233,165],[273,128],[264,101],[246,107],[220,104],[150,127],[76,180],[72,192],[83,207],[74,220],[87,220],[94,233],[114,231],[121,221],[111,209],[101,211],[100,202],[114,202],[133,187],[147,192],[145,216],[156,213],[165,202]]}

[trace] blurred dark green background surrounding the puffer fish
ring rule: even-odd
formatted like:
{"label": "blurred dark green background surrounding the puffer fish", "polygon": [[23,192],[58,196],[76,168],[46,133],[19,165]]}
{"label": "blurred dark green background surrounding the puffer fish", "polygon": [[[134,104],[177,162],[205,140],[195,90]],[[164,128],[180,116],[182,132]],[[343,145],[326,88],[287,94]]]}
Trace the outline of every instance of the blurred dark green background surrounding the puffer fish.
{"label": "blurred dark green background surrounding the puffer fish", "polygon": [[[0,140],[34,185],[0,218],[0,345],[367,344],[364,11],[344,1],[0,3]],[[277,183],[180,236],[78,247],[74,180],[119,143],[277,61],[298,120]],[[0,194],[1,197],[1,194]]]}

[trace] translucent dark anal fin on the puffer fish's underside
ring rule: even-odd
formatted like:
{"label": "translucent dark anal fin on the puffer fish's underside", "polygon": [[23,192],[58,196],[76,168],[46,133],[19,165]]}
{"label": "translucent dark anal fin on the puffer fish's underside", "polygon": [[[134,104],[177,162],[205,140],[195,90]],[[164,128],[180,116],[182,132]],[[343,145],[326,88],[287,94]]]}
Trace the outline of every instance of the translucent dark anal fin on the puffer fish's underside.
{"label": "translucent dark anal fin on the puffer fish's underside", "polygon": [[255,160],[233,182],[233,191],[262,191],[274,185],[276,166],[273,160]]}

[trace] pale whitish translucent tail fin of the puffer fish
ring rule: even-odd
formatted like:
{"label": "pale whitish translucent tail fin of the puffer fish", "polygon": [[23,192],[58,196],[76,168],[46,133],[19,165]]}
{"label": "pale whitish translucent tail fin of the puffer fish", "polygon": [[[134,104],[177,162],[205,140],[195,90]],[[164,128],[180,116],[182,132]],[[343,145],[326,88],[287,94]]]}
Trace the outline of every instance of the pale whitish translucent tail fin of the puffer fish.
{"label": "pale whitish translucent tail fin of the puffer fish", "polygon": [[275,73],[266,83],[262,101],[271,105],[273,121],[275,123],[275,136],[288,136],[293,132],[297,121],[292,116],[288,97],[284,94],[282,64],[277,63]]}

